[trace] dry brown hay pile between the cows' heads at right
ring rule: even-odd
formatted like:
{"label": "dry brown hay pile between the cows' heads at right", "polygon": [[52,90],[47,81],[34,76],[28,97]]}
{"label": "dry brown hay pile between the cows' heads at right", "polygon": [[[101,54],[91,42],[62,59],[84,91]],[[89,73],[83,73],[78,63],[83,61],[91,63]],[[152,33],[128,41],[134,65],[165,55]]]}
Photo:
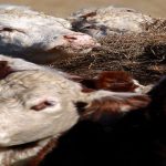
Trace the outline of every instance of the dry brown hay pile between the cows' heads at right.
{"label": "dry brown hay pile between the cows' heads at right", "polygon": [[87,77],[101,71],[127,71],[144,84],[166,74],[166,33],[154,25],[143,33],[113,34],[100,42],[101,48],[53,65]]}

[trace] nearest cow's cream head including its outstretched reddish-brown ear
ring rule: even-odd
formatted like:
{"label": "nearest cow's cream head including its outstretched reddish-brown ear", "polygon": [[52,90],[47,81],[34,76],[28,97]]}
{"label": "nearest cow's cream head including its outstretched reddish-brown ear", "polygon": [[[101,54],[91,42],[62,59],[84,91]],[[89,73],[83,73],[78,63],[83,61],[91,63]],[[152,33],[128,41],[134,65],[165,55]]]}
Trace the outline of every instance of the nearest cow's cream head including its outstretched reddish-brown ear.
{"label": "nearest cow's cream head including its outstretched reddish-brown ear", "polygon": [[123,115],[151,101],[147,95],[106,90],[92,89],[75,75],[0,55],[0,165],[38,165],[77,121],[98,121],[104,112]]}

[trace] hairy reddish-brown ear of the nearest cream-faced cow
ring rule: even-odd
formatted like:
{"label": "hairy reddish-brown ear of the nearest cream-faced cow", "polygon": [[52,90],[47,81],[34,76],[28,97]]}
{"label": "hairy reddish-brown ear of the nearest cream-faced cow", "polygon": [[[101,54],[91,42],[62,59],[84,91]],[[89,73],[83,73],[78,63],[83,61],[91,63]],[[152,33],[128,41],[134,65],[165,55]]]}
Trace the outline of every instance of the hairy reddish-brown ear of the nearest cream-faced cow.
{"label": "hairy reddish-brown ear of the nearest cream-faced cow", "polygon": [[82,120],[101,121],[103,118],[118,117],[129,111],[146,107],[151,100],[146,95],[123,96],[123,97],[101,97],[91,103],[77,103]]}

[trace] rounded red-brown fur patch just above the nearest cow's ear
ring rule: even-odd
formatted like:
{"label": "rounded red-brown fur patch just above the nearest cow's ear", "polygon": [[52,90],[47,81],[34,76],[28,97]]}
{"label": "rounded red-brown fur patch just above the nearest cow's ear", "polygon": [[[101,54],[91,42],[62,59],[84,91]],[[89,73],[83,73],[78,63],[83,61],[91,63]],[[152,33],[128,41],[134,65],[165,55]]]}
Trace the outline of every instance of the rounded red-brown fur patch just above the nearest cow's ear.
{"label": "rounded red-brown fur patch just above the nearest cow's ear", "polygon": [[114,92],[134,92],[138,87],[133,77],[123,71],[104,71],[97,79],[84,79],[81,83],[89,89]]}

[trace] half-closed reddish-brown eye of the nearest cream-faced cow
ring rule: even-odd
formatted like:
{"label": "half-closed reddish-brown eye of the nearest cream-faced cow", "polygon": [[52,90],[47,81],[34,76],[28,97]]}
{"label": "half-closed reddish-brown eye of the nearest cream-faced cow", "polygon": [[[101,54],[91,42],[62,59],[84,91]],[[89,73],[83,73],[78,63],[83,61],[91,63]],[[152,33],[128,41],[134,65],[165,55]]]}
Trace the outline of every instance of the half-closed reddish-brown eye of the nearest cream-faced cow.
{"label": "half-closed reddish-brown eye of the nearest cream-faced cow", "polygon": [[39,104],[37,104],[37,105],[33,105],[33,106],[31,107],[31,110],[34,110],[34,111],[42,111],[42,110],[44,110],[44,108],[46,108],[46,107],[50,107],[50,106],[53,106],[53,105],[54,105],[53,102],[43,101],[43,102],[41,102],[41,103],[39,103]]}

